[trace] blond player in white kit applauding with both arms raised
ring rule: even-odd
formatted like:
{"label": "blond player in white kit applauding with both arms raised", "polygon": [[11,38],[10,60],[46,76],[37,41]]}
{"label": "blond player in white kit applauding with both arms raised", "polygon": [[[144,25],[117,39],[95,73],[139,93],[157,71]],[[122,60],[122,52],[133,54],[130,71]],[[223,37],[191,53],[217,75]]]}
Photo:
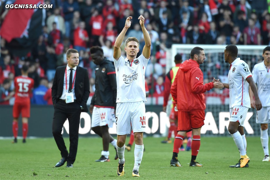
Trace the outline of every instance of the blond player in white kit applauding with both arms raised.
{"label": "blond player in white kit applauding with both arms raised", "polygon": [[125,27],[114,43],[114,66],[116,71],[117,98],[116,98],[116,133],[117,154],[119,158],[117,175],[124,175],[125,141],[130,133],[131,126],[134,132],[134,168],[133,177],[139,177],[139,167],[143,158],[143,132],[145,132],[145,69],[150,59],[151,39],[144,26],[144,17],[140,15],[140,25],[143,31],[145,46],[142,54],[139,52],[139,41],[136,37],[129,37],[125,41],[127,58],[121,56],[120,46],[127,29],[131,25],[132,17],[126,19]]}

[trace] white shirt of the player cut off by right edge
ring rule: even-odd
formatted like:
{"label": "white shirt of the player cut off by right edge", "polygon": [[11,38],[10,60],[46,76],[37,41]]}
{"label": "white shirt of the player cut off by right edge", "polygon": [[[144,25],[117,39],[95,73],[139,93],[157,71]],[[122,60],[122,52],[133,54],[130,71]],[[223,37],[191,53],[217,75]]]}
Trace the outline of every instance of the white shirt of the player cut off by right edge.
{"label": "white shirt of the player cut off by right edge", "polygon": [[[270,69],[270,68],[269,68]],[[264,61],[254,66],[252,77],[257,83],[259,98],[262,106],[270,106],[270,72],[264,64]]]}

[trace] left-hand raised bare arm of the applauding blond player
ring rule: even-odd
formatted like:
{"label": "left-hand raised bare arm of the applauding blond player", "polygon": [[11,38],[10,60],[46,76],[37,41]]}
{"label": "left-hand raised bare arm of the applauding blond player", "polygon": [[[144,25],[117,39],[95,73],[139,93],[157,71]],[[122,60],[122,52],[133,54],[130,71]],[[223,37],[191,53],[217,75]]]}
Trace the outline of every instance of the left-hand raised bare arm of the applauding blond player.
{"label": "left-hand raised bare arm of the applauding blond player", "polygon": [[115,43],[114,43],[114,59],[115,60],[118,60],[119,57],[121,56],[120,46],[124,40],[127,29],[130,28],[130,25],[131,25],[130,19],[132,19],[132,16],[127,17],[125,27],[123,28],[123,30],[121,31],[121,33],[118,35],[118,37],[115,40]]}

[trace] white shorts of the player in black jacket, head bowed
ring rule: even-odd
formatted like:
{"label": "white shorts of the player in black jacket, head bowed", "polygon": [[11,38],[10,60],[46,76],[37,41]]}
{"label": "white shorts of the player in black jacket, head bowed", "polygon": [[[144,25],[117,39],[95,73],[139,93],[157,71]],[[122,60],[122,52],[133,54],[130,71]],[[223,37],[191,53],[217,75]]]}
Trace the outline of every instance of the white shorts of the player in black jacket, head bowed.
{"label": "white shorts of the player in black jacket, head bowed", "polygon": [[115,122],[116,119],[113,108],[94,106],[91,127],[105,125],[108,125],[108,127],[113,127]]}

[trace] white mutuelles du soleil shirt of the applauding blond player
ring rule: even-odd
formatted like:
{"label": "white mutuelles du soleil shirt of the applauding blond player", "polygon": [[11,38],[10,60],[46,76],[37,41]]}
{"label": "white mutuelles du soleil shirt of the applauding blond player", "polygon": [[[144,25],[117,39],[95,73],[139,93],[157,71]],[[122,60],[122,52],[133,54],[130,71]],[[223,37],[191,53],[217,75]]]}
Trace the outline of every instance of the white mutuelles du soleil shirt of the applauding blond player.
{"label": "white mutuelles du soleil shirt of the applauding blond player", "polygon": [[116,102],[146,101],[144,74],[149,59],[142,54],[131,62],[123,56],[118,60],[114,59],[117,82]]}

